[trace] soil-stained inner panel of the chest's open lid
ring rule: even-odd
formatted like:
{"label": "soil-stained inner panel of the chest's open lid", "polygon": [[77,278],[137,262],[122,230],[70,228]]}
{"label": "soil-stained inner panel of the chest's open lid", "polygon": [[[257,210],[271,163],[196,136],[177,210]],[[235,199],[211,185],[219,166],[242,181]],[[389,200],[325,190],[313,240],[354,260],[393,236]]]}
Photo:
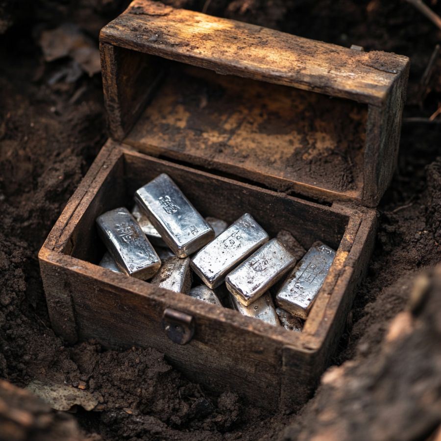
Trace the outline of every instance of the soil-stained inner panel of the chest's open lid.
{"label": "soil-stained inner panel of the chest's open lid", "polygon": [[172,65],[124,143],[280,191],[361,199],[368,106]]}

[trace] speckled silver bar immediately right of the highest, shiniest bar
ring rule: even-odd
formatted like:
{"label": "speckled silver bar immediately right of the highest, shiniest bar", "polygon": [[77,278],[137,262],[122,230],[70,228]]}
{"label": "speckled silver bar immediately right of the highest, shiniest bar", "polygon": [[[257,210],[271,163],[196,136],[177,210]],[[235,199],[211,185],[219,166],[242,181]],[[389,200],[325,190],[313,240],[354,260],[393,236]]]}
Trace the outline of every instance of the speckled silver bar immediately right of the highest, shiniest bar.
{"label": "speckled silver bar immediately right of the highest, shiniest bar", "polygon": [[192,269],[208,287],[216,288],[228,272],[267,241],[267,232],[245,213],[193,257]]}

